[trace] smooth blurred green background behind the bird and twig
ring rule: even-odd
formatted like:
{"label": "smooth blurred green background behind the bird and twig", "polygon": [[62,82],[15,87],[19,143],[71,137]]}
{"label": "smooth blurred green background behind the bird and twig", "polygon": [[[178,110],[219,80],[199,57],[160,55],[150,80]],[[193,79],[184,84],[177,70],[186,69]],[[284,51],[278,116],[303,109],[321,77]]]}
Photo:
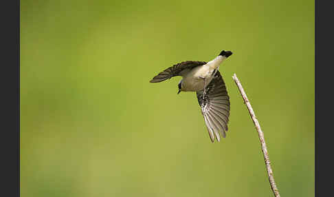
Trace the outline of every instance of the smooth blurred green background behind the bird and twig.
{"label": "smooth blurred green background behind the bird and twig", "polygon": [[[314,196],[314,1],[21,1],[21,196]],[[180,61],[234,54],[211,143]]]}

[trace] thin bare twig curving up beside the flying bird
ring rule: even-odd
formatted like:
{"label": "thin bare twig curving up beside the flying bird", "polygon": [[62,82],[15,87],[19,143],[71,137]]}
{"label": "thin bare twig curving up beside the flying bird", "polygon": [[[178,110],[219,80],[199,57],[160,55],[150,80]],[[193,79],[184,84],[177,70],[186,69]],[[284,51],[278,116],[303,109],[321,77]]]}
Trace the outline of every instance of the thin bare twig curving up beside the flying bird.
{"label": "thin bare twig curving up beside the flying bird", "polygon": [[241,85],[240,81],[238,80],[238,78],[236,77],[236,74],[233,75],[232,77],[234,79],[234,82],[236,83],[236,85],[238,86],[238,89],[241,93],[241,96],[243,96],[243,101],[245,102],[249,115],[252,117],[253,123],[256,127],[256,130],[258,130],[258,138],[260,138],[260,143],[262,146],[262,152],[263,152],[263,156],[265,158],[265,166],[267,167],[267,173],[269,176],[269,183],[270,183],[270,187],[274,192],[274,196],[278,197],[280,196],[280,193],[278,192],[275,180],[274,180],[274,175],[273,175],[273,170],[271,169],[270,166],[270,160],[269,160],[269,154],[267,151],[267,145],[265,145],[265,136],[263,136],[263,132],[261,130],[260,124],[258,123],[258,119],[256,118],[255,114],[254,114],[254,110],[252,108],[252,105],[249,103],[249,100],[246,96],[245,90],[243,90],[243,86]]}

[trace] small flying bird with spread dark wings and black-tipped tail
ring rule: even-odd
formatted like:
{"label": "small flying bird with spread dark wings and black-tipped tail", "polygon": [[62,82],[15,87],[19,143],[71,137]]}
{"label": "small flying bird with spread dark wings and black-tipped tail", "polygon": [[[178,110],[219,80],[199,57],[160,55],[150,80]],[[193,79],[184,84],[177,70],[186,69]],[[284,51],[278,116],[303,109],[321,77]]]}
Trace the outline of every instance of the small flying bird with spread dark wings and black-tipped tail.
{"label": "small flying bird with spread dark wings and black-tipped tail", "polygon": [[[150,83],[159,83],[174,76],[182,76],[178,92],[196,92],[201,114],[204,117],[210,140],[214,143],[225,138],[230,118],[230,96],[219,66],[231,56],[231,51],[222,50],[212,61],[182,61],[159,72]],[[219,135],[221,134],[221,136]]]}

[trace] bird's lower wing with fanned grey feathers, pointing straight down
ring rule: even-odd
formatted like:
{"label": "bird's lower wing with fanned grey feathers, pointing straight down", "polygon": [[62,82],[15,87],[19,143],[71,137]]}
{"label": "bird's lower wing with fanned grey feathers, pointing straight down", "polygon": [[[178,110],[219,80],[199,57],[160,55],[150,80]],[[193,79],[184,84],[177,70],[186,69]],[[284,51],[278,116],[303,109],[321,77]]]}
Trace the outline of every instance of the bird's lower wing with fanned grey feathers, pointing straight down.
{"label": "bird's lower wing with fanned grey feathers, pointing straight down", "polygon": [[214,142],[214,135],[220,141],[219,132],[225,138],[227,123],[230,116],[230,96],[227,94],[225,82],[217,70],[214,79],[205,88],[206,96],[203,98],[203,90],[196,92],[205,125],[208,128],[210,139]]}

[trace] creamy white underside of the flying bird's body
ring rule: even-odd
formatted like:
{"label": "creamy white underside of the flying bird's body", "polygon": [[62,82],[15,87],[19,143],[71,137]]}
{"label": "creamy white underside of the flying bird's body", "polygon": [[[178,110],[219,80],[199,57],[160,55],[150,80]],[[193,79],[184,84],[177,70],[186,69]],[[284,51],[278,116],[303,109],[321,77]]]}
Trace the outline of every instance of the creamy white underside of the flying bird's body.
{"label": "creamy white underside of the flying bird's body", "polygon": [[205,65],[201,65],[190,72],[184,74],[181,91],[184,92],[197,92],[204,89],[204,79],[205,86],[207,86],[213,79],[214,70],[219,69],[219,65],[226,59],[225,56],[217,56],[214,60],[209,61]]}

